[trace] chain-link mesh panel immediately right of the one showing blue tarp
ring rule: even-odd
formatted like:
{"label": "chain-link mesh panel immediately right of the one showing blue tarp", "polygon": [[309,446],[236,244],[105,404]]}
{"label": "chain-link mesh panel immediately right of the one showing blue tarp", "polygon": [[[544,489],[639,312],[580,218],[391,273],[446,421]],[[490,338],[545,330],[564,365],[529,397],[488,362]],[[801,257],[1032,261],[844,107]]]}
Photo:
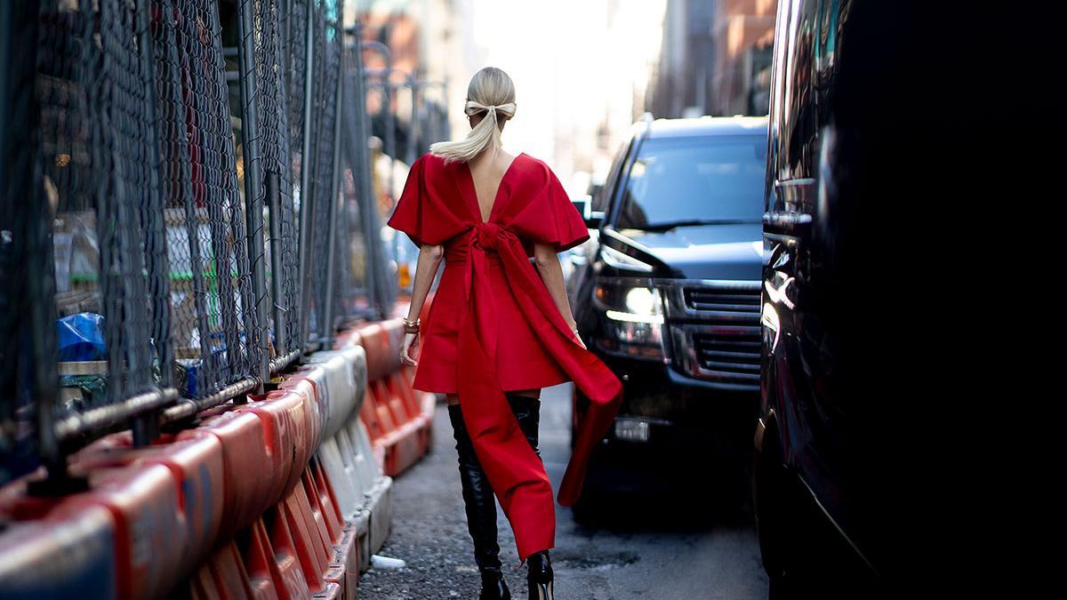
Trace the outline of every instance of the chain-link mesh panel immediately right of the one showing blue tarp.
{"label": "chain-link mesh panel immediately right of the one showing blue tarp", "polygon": [[176,369],[182,395],[198,398],[255,373],[244,211],[218,7],[153,4]]}

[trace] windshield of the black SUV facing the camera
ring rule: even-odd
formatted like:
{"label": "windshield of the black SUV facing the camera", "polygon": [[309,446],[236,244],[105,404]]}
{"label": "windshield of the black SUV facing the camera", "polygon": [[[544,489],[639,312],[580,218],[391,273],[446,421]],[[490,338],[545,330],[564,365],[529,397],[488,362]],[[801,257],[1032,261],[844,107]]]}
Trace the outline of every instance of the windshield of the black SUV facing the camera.
{"label": "windshield of the black SUV facing the camera", "polygon": [[618,228],[759,222],[765,136],[646,140],[630,168]]}

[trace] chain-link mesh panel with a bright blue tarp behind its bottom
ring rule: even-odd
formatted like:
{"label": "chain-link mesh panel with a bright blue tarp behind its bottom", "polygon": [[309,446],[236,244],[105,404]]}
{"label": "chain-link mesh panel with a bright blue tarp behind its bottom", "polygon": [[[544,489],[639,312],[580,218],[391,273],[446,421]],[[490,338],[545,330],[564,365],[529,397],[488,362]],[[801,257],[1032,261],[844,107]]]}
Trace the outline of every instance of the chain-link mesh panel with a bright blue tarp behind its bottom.
{"label": "chain-link mesh panel with a bright blue tarp behind its bottom", "polygon": [[70,317],[61,331],[85,337],[60,347],[61,412],[156,390],[169,356],[147,23],[144,2],[41,3],[35,93],[58,312]]}

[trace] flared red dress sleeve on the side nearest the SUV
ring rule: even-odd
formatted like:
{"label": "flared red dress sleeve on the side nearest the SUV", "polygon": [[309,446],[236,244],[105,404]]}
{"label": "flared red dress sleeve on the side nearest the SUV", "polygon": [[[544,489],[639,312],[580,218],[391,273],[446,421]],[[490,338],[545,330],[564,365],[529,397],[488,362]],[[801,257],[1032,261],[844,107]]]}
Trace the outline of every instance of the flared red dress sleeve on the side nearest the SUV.
{"label": "flared red dress sleeve on the side nearest the SUV", "polygon": [[559,178],[543,162],[522,190],[528,195],[510,226],[529,241],[563,252],[589,239],[589,228]]}

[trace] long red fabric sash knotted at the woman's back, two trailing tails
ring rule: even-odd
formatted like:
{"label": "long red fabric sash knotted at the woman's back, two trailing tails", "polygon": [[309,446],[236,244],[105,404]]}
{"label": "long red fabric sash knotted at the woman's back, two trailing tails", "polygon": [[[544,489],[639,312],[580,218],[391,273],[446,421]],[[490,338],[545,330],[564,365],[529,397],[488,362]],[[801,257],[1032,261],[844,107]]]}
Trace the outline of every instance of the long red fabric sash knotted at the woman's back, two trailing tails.
{"label": "long red fabric sash knotted at the woman's back, two trailing tails", "polygon": [[[557,500],[570,506],[582,492],[589,456],[610,427],[622,401],[619,378],[573,336],[523,249],[495,223],[477,223],[468,234],[464,288],[467,310],[459,328],[457,381],[463,421],[475,452],[515,534],[522,562],[555,546],[556,518],[544,463],[529,446],[500,389],[494,358],[496,307],[487,273],[487,251],[495,251],[523,316],[574,384],[589,398]],[[522,368],[522,365],[516,365]]]}

